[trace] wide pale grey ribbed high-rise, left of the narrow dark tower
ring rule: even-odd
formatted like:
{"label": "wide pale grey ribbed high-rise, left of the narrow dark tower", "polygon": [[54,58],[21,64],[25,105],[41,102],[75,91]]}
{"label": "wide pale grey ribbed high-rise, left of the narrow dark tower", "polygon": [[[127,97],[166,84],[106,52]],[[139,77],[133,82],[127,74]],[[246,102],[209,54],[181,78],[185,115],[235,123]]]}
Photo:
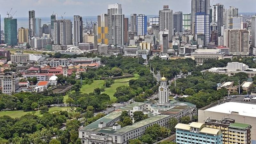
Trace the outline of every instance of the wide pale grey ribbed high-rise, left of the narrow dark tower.
{"label": "wide pale grey ribbed high-rise, left of the narrow dark tower", "polygon": [[72,44],[71,20],[55,20],[52,38],[55,45]]}

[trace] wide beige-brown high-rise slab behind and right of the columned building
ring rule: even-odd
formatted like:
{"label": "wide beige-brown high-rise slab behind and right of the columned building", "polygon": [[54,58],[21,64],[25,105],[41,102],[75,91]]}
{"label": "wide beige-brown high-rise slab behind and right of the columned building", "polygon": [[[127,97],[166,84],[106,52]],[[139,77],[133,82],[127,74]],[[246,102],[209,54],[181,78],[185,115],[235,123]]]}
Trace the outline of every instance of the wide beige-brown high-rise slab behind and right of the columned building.
{"label": "wide beige-brown high-rise slab behind and right of the columned building", "polygon": [[225,29],[224,46],[235,56],[249,55],[249,31],[246,29]]}

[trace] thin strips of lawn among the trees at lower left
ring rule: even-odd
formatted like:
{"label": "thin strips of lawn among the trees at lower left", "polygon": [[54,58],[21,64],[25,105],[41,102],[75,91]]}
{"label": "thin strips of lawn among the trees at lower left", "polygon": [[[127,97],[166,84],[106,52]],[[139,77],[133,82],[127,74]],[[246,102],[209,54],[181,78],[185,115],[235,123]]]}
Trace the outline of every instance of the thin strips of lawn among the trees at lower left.
{"label": "thin strips of lawn among the trees at lower left", "polygon": [[[49,113],[54,113],[54,112],[59,112],[59,111],[62,111],[62,110],[67,110],[68,108],[70,108],[70,107],[52,107],[52,108],[49,108]],[[1,111],[0,116],[7,115],[7,116],[11,116],[12,118],[16,118],[16,117],[26,115],[29,112],[30,111],[24,112],[22,110]],[[35,112],[36,112],[35,115],[42,116],[40,114],[40,110],[39,110],[39,115],[38,115],[38,111],[35,111]]]}

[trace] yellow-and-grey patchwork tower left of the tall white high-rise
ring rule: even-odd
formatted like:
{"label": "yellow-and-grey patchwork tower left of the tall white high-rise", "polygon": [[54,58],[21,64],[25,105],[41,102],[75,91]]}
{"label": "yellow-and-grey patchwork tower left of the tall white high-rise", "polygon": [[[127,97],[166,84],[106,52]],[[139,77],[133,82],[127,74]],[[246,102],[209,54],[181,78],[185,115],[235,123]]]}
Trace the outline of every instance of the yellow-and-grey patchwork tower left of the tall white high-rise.
{"label": "yellow-and-grey patchwork tower left of the tall white high-rise", "polygon": [[108,14],[98,15],[98,43],[108,44]]}

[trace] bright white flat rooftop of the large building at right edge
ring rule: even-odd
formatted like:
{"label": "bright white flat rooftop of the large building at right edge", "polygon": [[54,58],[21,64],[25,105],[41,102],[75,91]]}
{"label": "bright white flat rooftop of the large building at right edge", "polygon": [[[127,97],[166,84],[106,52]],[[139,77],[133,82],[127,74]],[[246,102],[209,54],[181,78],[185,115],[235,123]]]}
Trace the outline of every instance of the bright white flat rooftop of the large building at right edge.
{"label": "bright white flat rooftop of the large building at right edge", "polygon": [[241,116],[256,117],[256,104],[243,103],[243,102],[226,102],[220,105],[215,105],[211,108],[205,109],[205,111],[219,112],[225,114],[231,114],[231,112],[238,112]]}

